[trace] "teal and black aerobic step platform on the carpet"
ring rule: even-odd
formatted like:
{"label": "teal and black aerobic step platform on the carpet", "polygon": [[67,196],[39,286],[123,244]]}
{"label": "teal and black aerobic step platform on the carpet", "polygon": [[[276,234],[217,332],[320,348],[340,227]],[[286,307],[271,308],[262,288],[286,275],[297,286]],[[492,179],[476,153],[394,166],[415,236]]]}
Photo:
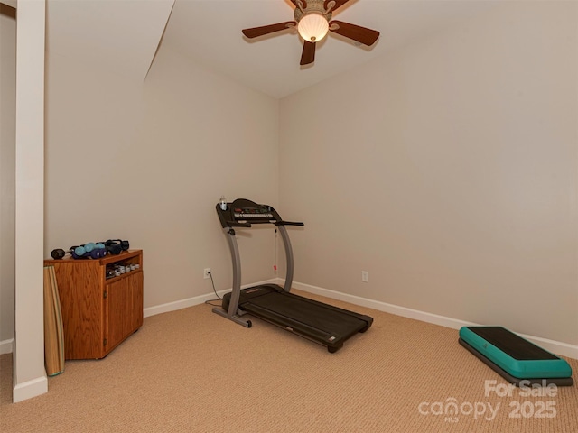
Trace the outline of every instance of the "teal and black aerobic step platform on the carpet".
{"label": "teal and black aerobic step platform on the carpet", "polygon": [[510,383],[573,385],[570,364],[505,327],[461,327],[458,341]]}

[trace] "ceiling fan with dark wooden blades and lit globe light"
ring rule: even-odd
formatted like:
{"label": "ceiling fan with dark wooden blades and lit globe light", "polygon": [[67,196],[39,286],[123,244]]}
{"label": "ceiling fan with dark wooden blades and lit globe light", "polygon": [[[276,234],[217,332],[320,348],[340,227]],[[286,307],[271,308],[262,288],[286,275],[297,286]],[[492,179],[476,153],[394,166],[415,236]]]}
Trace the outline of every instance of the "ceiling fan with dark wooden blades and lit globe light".
{"label": "ceiling fan with dark wooden blades and lit globe light", "polygon": [[315,43],[321,41],[327,32],[335,32],[367,46],[373,45],[378,40],[379,32],[342,21],[331,21],[331,14],[349,1],[291,0],[295,5],[294,21],[253,27],[242,32],[252,39],[296,26],[304,41],[300,65],[308,65],[315,60]]}

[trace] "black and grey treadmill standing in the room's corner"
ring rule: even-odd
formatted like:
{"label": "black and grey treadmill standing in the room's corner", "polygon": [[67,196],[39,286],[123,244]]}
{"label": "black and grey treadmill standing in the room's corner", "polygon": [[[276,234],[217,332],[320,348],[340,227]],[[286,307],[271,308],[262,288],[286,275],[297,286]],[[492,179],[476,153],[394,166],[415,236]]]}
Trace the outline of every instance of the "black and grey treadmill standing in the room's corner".
{"label": "black and grey treadmill standing in the room's corner", "polygon": [[[244,327],[251,327],[250,320],[241,318],[249,314],[325,345],[331,354],[337,352],[345,340],[371,327],[373,318],[369,316],[291,293],[293,251],[285,226],[303,226],[303,223],[284,221],[273,207],[259,205],[246,198],[238,198],[231,203],[224,200],[219,202],[217,215],[231,250],[233,290],[223,296],[222,308],[212,309],[214,313]],[[272,224],[283,238],[287,259],[284,287],[271,283],[241,290],[241,262],[235,229],[249,228],[254,224]]]}

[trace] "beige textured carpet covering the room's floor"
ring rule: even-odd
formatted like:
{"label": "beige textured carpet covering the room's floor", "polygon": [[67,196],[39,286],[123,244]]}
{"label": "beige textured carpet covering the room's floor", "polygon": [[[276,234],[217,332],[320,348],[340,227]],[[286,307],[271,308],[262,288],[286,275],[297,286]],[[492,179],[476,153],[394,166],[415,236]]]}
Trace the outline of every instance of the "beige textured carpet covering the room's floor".
{"label": "beige textured carpet covering the room's floor", "polygon": [[[549,396],[487,393],[485,381],[499,392],[506,382],[456,330],[323,300],[372,316],[373,327],[329,354],[199,305],[145,318],[107,358],[68,361],[47,394],[16,404],[12,355],[1,355],[0,431],[578,431],[576,385]],[[578,361],[568,361],[575,380]]]}

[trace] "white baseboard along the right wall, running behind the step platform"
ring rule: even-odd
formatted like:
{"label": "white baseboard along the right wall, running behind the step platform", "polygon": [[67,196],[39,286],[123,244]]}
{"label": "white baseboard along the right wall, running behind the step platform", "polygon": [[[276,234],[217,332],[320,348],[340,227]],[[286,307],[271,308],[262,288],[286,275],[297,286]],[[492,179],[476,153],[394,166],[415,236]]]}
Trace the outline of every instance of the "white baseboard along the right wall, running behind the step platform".
{"label": "white baseboard along the right wall, running behind the step platform", "polygon": [[[278,279],[277,284],[283,285],[284,280]],[[315,295],[342,300],[344,302],[349,302],[350,304],[359,305],[361,307],[368,307],[369,309],[377,309],[378,311],[384,311],[386,313],[395,314],[396,316],[402,316],[404,318],[415,318],[415,320],[421,320],[423,322],[440,325],[442,327],[460,329],[461,327],[480,326],[480,324],[466,322],[457,318],[446,318],[444,316],[427,313],[425,311],[419,311],[417,309],[407,309],[406,307],[399,307],[397,305],[387,304],[386,302],[381,302],[378,300],[360,298],[359,296],[348,295],[345,293],[340,293],[339,291],[322,289],[321,287],[303,284],[301,282],[294,282],[292,286],[297,290],[307,291]],[[526,338],[527,340],[530,340],[534,344],[539,345],[545,348],[545,350],[550,351],[556,355],[563,355],[573,359],[578,359],[578,345],[569,345],[567,343],[549,340],[539,336],[528,336],[526,334],[518,335]]]}

